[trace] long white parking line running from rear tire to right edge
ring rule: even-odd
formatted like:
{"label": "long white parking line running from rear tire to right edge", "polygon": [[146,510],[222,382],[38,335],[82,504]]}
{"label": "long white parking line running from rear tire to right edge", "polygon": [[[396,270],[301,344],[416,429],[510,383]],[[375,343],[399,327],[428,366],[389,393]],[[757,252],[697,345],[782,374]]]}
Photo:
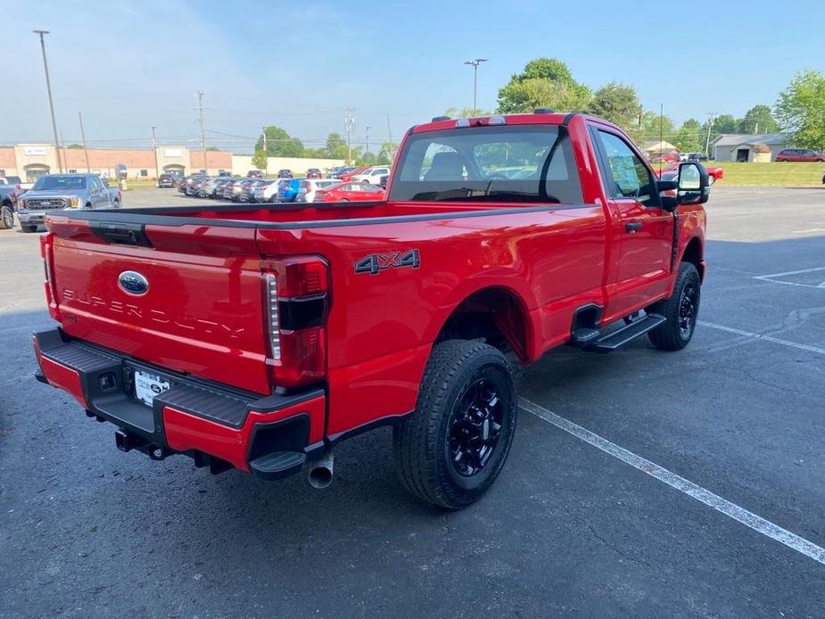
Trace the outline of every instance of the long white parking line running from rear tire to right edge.
{"label": "long white parking line running from rear tire to right edge", "polygon": [[771,521],[765,520],[762,516],[756,516],[753,512],[749,512],[745,508],[740,508],[727,499],[722,499],[718,494],[714,494],[714,492],[703,488],[697,483],[693,483],[680,475],[676,475],[648,459],[637,456],[632,451],[625,450],[623,447],[619,447],[614,442],[608,441],[597,433],[590,432],[590,430],[583,428],[581,425],[574,424],[564,417],[559,417],[556,413],[540,407],[530,400],[519,398],[518,401],[519,406],[526,412],[532,413],[549,424],[555,425],[566,433],[573,434],[577,439],[590,443],[593,447],[604,451],[614,458],[622,460],[625,464],[639,469],[642,473],[655,477],[660,482],[666,483],[678,491],[684,492],[689,497],[705,503],[709,508],[714,508],[716,511],[733,518],[737,522],[753,529],[755,532],[760,532],[766,537],[771,538],[771,540],[779,541],[780,544],[784,544],[789,549],[796,550],[796,552],[803,554],[805,557],[811,557],[814,561],[825,565],[825,549],[817,546],[813,541],[807,541],[796,535],[796,533],[783,529],[779,524],[773,524]]}

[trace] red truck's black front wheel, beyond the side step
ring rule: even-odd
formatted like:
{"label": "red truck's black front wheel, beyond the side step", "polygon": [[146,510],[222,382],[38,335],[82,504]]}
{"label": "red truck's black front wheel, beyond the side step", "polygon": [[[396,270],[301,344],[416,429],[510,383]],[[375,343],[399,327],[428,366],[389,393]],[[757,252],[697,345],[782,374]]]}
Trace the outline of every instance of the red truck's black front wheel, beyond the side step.
{"label": "red truck's black front wheel, beyond the side step", "polygon": [[670,298],[648,307],[648,314],[661,314],[667,321],[648,333],[650,342],[663,351],[681,351],[690,342],[699,316],[699,273],[689,262],[679,265],[679,275]]}

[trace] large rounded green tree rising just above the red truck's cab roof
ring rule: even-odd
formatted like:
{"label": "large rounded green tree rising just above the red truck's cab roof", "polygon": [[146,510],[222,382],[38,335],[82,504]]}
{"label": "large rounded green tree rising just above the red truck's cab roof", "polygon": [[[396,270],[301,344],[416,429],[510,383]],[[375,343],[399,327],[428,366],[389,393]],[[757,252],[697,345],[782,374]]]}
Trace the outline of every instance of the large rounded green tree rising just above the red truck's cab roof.
{"label": "large rounded green tree rising just above the red truck's cab roof", "polygon": [[564,62],[536,58],[499,89],[499,113],[533,111],[537,107],[584,110],[591,97],[590,88],[575,81]]}

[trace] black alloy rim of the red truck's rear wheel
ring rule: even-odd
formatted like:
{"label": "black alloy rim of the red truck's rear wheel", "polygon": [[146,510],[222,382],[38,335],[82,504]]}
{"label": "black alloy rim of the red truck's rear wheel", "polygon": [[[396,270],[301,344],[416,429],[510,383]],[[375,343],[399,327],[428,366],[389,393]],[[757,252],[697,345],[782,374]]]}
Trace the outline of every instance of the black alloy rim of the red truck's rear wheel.
{"label": "black alloy rim of the red truck's rear wheel", "polygon": [[490,464],[501,435],[504,404],[495,385],[479,378],[467,386],[450,415],[447,451],[458,475],[472,477]]}

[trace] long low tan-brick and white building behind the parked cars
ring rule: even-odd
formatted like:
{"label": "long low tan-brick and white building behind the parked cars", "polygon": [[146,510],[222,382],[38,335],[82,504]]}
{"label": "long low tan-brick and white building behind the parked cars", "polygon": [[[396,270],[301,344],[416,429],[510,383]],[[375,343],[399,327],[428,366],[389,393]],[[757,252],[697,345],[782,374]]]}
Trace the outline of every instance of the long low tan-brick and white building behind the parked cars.
{"label": "long low tan-brick and white building behind the parked cars", "polygon": [[[243,176],[252,169],[252,156],[234,155],[229,151],[204,153],[186,146],[158,146],[155,164],[155,152],[151,149],[61,148],[59,162],[53,144],[0,146],[0,177],[16,176],[25,182],[59,172],[61,167],[64,172],[88,171],[114,177],[120,163],[126,166],[128,178],[156,178],[159,172],[189,174],[202,170],[212,176],[221,171]],[[328,169],[340,165],[343,161],[338,159],[268,158],[270,172],[291,169],[301,174],[309,168]]]}

